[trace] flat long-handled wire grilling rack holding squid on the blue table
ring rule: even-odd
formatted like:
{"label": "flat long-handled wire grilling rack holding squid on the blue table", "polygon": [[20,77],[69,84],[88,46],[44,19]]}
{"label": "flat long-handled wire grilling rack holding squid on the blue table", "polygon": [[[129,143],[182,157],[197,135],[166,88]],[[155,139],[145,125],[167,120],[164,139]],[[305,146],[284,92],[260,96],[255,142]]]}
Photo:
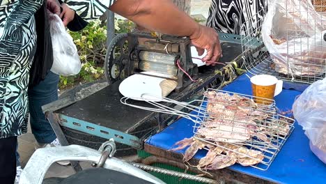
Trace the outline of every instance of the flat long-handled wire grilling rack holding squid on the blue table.
{"label": "flat long-handled wire grilling rack holding squid on the blue table", "polygon": [[147,107],[135,105],[127,97],[121,102],[187,118],[194,122],[194,138],[221,148],[221,154],[236,157],[240,164],[261,170],[268,169],[294,129],[293,119],[277,114],[274,100],[251,95],[208,89],[201,100],[160,100],[169,106],[150,99],[154,98],[149,94],[134,99],[148,102],[151,106]]}

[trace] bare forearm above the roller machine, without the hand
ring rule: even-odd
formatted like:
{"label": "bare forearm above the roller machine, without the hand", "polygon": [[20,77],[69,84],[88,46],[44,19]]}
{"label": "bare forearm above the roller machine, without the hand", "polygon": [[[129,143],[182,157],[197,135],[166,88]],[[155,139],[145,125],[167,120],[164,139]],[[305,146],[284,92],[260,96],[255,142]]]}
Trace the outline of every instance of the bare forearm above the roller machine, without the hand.
{"label": "bare forearm above the roller machine, without the hand", "polygon": [[200,30],[199,24],[174,6],[172,1],[118,0],[109,9],[146,29],[176,36],[199,35],[195,33]]}

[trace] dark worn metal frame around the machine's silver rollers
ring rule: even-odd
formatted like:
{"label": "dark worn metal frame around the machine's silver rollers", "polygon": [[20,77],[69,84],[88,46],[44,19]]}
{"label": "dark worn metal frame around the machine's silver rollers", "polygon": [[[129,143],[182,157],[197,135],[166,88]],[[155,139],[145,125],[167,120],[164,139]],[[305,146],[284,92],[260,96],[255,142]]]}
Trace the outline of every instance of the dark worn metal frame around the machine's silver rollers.
{"label": "dark worn metal frame around the machine's silver rollers", "polygon": [[[143,45],[139,44],[140,39],[146,39]],[[128,33],[128,48],[130,49],[130,61],[128,62],[128,76],[132,75],[136,68],[141,68],[139,63],[141,62],[141,52],[155,52],[166,54],[167,56],[172,56],[176,54],[174,59],[174,66],[176,67],[177,62],[180,62],[180,67],[187,71],[192,79],[198,79],[198,68],[196,64],[192,63],[192,55],[190,52],[190,40],[187,37],[176,37],[176,36],[160,36],[160,38],[155,38],[150,35],[150,33],[142,33],[135,31]],[[144,59],[148,59],[148,56],[144,56]],[[153,63],[153,62],[152,62]],[[179,63],[178,63],[179,64]],[[192,83],[192,81],[185,75],[185,72],[178,69],[177,80],[178,86],[176,86],[175,91],[179,93],[186,86]]]}

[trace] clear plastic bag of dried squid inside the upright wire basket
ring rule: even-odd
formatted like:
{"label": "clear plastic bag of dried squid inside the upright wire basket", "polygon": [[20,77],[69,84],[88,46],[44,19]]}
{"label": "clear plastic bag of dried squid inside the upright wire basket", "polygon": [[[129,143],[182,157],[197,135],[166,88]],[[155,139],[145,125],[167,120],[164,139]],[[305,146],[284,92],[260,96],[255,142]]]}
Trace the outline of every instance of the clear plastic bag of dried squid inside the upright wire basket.
{"label": "clear plastic bag of dried squid inside the upright wire basket", "polygon": [[270,1],[262,37],[275,70],[285,75],[325,73],[326,14],[316,12],[311,0]]}

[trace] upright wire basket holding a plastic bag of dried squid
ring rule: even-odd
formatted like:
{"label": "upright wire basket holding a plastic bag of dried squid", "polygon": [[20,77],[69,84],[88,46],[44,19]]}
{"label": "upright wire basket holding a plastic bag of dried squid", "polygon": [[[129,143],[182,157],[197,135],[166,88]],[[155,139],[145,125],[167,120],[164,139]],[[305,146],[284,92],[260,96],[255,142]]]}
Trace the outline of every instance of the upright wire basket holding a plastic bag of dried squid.
{"label": "upright wire basket holding a plastic bag of dried squid", "polygon": [[326,1],[270,1],[268,12],[260,10],[242,24],[253,22],[258,26],[247,26],[241,36],[244,67],[251,74],[308,84],[325,77]]}

